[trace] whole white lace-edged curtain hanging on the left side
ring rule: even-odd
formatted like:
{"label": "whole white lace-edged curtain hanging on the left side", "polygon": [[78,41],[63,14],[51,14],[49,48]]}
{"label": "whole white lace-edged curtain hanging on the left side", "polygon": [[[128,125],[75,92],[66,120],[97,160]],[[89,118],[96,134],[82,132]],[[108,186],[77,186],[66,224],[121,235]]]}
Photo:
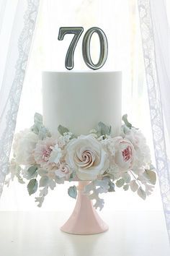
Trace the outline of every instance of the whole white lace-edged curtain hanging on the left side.
{"label": "whole white lace-edged curtain hanging on the left side", "polygon": [[0,196],[38,7],[38,0],[0,1]]}

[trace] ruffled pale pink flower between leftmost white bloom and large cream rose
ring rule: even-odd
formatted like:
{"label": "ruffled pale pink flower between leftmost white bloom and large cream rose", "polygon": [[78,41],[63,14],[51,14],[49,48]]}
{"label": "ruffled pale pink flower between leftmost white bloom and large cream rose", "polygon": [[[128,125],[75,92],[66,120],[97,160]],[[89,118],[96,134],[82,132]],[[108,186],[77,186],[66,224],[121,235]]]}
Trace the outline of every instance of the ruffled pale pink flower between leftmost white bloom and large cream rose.
{"label": "ruffled pale pink flower between leftmost white bloom and large cream rose", "polygon": [[53,168],[61,158],[61,148],[58,148],[57,140],[47,137],[45,140],[37,142],[35,148],[35,161],[42,168]]}

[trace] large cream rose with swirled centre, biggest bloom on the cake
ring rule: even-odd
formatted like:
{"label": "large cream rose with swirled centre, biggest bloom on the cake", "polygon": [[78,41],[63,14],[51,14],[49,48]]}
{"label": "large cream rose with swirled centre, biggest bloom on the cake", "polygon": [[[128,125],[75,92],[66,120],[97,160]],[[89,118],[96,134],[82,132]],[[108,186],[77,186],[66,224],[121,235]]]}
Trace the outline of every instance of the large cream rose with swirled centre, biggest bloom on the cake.
{"label": "large cream rose with swirled centre, biggest bloom on the cake", "polygon": [[76,171],[81,180],[94,180],[104,174],[109,161],[102,143],[91,135],[81,135],[66,147],[66,163]]}

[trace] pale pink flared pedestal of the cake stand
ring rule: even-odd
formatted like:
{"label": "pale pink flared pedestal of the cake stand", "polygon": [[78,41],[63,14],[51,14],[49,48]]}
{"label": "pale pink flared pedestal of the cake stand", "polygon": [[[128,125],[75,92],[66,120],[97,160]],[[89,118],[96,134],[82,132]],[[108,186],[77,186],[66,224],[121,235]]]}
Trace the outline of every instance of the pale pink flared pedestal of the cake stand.
{"label": "pale pink flared pedestal of the cake stand", "polygon": [[99,217],[89,197],[83,194],[84,186],[89,182],[79,182],[76,206],[61,231],[69,234],[99,234],[107,231],[108,226]]}

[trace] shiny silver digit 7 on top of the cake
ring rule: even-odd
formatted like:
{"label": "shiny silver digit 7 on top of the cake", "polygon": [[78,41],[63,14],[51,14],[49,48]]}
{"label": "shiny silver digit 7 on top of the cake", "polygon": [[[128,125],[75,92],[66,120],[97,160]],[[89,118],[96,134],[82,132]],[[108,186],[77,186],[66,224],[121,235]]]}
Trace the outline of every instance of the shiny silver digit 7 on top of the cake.
{"label": "shiny silver digit 7 on top of the cake", "polygon": [[70,46],[66,54],[65,66],[66,69],[73,69],[73,54],[76,48],[76,44],[83,33],[83,27],[60,27],[58,33],[58,40],[63,40],[64,35],[74,34],[73,39],[71,40]]}

